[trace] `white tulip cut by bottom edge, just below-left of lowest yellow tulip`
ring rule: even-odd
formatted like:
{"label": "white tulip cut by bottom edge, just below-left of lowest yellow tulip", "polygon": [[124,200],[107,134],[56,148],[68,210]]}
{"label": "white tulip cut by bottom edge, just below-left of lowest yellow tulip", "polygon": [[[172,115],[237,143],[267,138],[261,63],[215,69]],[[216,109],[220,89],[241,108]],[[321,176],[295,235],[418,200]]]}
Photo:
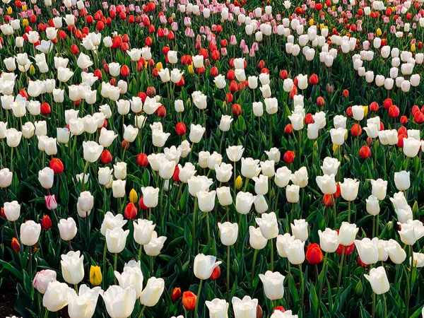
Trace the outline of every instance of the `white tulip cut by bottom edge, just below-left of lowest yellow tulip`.
{"label": "white tulip cut by bottom edge, just below-left of lowest yellow tulip", "polygon": [[91,318],[102,289],[95,287],[90,289],[87,285],[81,285],[78,295],[75,290],[69,289],[68,314],[71,318]]}

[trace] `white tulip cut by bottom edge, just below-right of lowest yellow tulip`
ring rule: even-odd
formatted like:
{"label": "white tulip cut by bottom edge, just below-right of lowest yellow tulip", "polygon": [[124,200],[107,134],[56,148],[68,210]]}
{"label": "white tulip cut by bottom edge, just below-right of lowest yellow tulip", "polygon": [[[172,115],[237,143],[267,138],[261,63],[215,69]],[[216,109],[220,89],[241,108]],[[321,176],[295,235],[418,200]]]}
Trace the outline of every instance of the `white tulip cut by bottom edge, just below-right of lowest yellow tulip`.
{"label": "white tulip cut by bottom edge, just below-right of lowest yellow tulip", "polygon": [[118,285],[111,285],[101,295],[105,301],[107,314],[112,318],[127,318],[134,310],[136,290],[133,285],[125,289]]}

